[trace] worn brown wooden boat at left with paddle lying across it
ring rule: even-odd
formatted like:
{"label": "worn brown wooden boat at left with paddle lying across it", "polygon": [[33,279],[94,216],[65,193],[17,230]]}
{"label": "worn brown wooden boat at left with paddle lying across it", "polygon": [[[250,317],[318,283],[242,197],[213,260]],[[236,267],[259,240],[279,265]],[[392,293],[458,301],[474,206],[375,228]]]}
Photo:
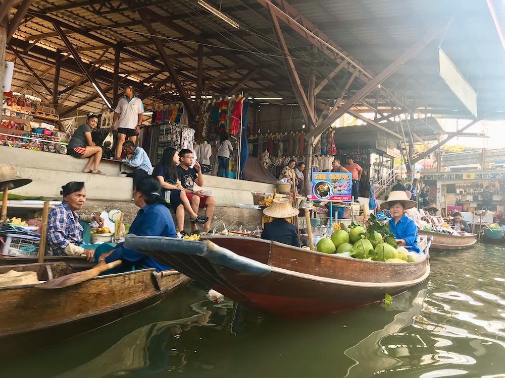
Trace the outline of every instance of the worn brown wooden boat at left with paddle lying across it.
{"label": "worn brown wooden boat at left with paddle lying across it", "polygon": [[[41,281],[74,270],[63,262],[0,266],[34,271]],[[62,289],[0,287],[0,353],[39,348],[122,319],[164,299],[190,278],[175,270],[143,269],[98,276]]]}

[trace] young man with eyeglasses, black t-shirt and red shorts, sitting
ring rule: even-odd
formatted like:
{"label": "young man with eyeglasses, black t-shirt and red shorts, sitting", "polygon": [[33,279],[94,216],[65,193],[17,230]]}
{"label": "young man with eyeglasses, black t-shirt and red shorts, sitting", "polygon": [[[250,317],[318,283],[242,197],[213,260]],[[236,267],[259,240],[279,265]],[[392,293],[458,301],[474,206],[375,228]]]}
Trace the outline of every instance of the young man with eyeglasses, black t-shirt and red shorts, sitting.
{"label": "young man with eyeglasses, black t-shirt and red shorts, sitting", "polygon": [[[194,191],[193,187],[196,183],[198,186],[204,186],[204,175],[201,173],[200,164],[195,161],[193,168],[193,153],[191,150],[182,149],[179,151],[180,165],[177,166],[177,176],[181,181],[184,192],[191,204],[191,208],[195,213],[198,213],[198,208],[205,208],[205,216],[209,220],[204,224],[204,232],[211,228],[211,220],[216,207],[216,200],[212,196],[205,196],[201,191]],[[191,232],[198,231],[196,224],[191,224]]]}

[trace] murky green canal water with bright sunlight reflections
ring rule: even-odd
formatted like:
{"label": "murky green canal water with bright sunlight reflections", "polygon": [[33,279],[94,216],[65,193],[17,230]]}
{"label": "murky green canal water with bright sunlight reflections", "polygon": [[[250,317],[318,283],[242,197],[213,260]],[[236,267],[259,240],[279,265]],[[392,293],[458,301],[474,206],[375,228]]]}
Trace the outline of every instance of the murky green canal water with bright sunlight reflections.
{"label": "murky green canal water with bright sunlight reflections", "polygon": [[192,284],[107,327],[0,356],[0,377],[505,377],[504,262],[489,245],[432,252],[429,280],[390,305],[303,320],[213,303]]}

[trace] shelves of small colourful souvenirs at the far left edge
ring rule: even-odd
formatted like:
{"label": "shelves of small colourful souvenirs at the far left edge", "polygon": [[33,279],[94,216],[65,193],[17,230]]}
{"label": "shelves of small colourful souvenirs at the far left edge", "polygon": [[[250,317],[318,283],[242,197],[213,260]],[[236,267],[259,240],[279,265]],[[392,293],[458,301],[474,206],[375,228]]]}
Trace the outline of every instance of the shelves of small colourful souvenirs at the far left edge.
{"label": "shelves of small colourful souvenirs at the far left edge", "polygon": [[68,134],[53,107],[41,99],[4,93],[0,145],[63,154]]}

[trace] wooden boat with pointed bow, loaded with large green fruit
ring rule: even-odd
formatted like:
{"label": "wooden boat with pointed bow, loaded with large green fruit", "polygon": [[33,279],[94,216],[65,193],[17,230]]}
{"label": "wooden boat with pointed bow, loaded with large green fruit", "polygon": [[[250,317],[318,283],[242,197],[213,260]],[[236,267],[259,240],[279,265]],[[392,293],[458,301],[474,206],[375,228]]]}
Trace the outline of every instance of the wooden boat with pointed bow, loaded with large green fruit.
{"label": "wooden boat with pointed bow, loaded with large green fruit", "polygon": [[310,317],[378,302],[430,274],[423,259],[395,264],[322,254],[274,241],[210,236],[205,242],[128,236],[128,248],[180,270],[225,296],[281,318]]}

